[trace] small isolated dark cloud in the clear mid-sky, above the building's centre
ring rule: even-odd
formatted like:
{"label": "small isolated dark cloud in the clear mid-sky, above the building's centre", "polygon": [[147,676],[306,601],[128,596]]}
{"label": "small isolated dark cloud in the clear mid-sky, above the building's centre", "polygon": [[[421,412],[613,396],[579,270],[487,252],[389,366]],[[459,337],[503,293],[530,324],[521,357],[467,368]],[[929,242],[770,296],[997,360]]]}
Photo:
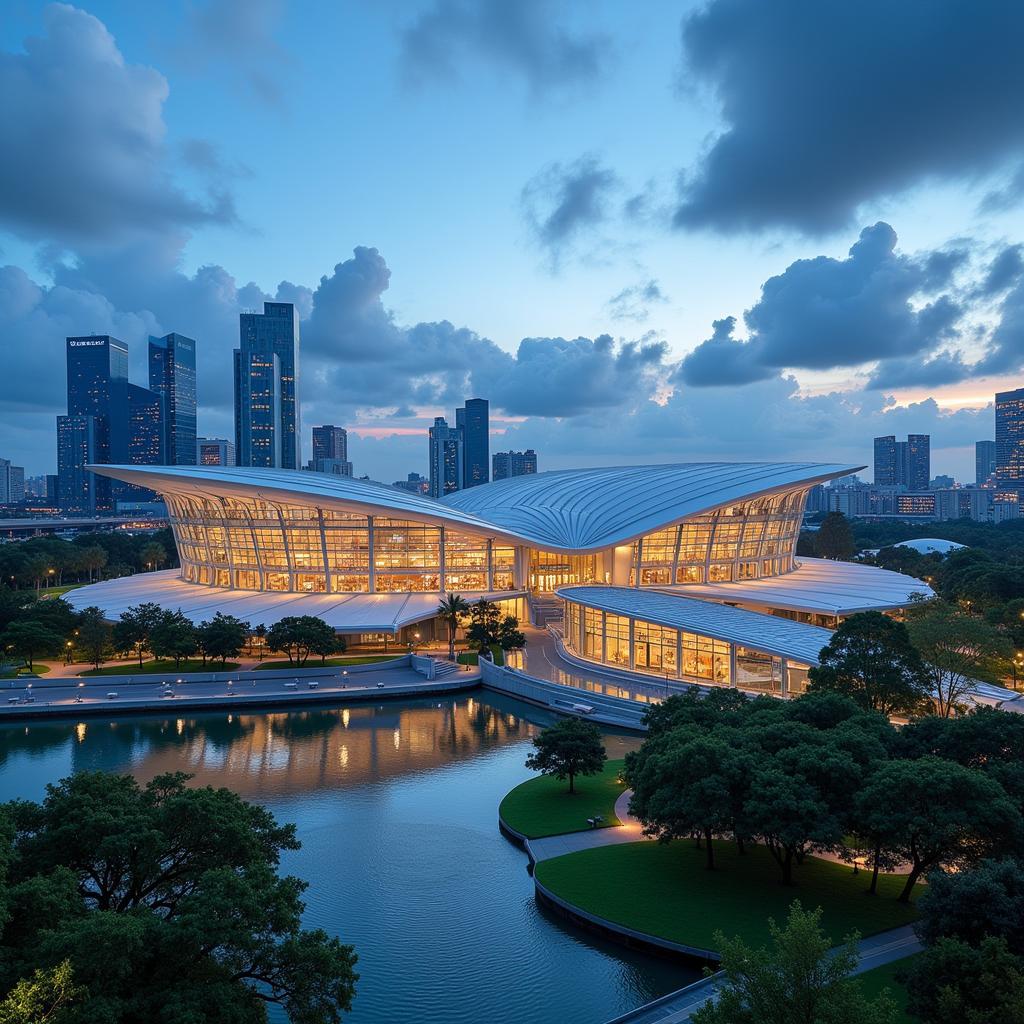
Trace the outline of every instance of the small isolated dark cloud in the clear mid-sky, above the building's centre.
{"label": "small isolated dark cloud in the clear mid-sky, above the building's centre", "polygon": [[617,187],[615,174],[590,155],[552,164],[526,182],[521,197],[526,220],[552,260],[604,221]]}

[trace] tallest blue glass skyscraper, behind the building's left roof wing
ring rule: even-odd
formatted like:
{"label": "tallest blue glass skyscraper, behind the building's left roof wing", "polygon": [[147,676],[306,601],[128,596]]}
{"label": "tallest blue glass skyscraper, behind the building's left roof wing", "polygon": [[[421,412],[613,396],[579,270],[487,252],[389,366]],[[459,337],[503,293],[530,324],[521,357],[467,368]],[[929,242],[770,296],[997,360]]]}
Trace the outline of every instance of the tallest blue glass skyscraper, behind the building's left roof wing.
{"label": "tallest blue glass skyscraper, behind the building's left roof wing", "polygon": [[299,316],[291,302],[264,302],[239,316],[234,349],[234,450],[240,466],[298,469]]}

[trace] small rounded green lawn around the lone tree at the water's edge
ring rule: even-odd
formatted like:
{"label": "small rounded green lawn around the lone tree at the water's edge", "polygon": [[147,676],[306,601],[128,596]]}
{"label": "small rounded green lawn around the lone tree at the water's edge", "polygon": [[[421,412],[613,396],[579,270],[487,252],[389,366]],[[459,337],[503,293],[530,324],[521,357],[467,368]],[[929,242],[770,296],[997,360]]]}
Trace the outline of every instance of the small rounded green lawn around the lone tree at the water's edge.
{"label": "small rounded green lawn around the lone tree at the water's edge", "polygon": [[567,781],[539,775],[506,795],[499,817],[527,839],[582,831],[594,814],[603,815],[605,825],[617,825],[615,801],[626,788],[618,781],[622,769],[622,761],[606,761],[600,775],[577,778],[573,794]]}

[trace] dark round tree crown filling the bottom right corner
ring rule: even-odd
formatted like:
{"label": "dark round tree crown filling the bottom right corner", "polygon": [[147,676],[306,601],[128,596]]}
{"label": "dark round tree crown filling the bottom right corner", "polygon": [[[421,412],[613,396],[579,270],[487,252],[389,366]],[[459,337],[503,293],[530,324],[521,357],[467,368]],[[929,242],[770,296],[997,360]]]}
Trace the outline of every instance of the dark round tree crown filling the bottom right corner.
{"label": "dark round tree crown filling the bottom right corner", "polygon": [[940,939],[915,959],[906,990],[907,1010],[928,1024],[1024,1021],[1024,959],[1006,939]]}

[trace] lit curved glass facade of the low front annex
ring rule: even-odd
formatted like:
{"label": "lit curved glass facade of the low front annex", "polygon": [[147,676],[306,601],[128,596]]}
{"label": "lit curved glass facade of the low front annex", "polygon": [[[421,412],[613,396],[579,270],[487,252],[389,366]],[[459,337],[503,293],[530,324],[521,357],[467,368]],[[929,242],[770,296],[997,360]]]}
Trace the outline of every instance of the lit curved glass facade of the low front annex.
{"label": "lit curved glass facade of the low front annex", "polygon": [[[565,602],[565,646],[642,675],[765,693],[803,693],[808,666],[714,637]],[[784,685],[783,685],[784,682]]]}

